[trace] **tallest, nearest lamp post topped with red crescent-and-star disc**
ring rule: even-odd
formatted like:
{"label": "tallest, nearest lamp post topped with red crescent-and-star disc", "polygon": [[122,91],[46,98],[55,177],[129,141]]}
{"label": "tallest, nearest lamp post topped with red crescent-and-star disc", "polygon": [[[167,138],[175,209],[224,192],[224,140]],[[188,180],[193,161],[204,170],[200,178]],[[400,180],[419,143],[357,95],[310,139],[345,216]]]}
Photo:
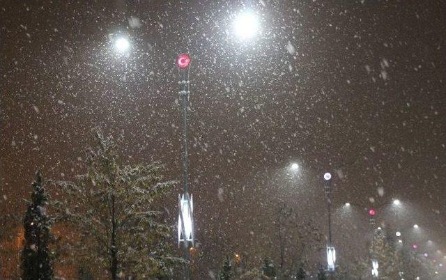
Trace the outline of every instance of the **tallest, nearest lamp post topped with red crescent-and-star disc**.
{"label": "tallest, nearest lamp post topped with red crescent-and-star disc", "polygon": [[[179,54],[176,59],[178,72],[180,75],[180,97],[183,115],[183,195],[178,195],[178,246],[183,242],[184,258],[189,260],[189,244],[194,247],[194,220],[193,220],[193,199],[189,195],[187,185],[187,101],[189,99],[189,66],[190,56],[187,54]],[[185,279],[189,279],[189,270],[185,266]]]}

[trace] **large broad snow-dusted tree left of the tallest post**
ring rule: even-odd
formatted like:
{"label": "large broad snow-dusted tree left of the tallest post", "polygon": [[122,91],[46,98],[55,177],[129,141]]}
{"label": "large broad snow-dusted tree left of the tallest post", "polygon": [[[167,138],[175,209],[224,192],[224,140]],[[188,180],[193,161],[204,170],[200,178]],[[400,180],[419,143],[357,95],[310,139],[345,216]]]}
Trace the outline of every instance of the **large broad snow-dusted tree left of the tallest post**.
{"label": "large broad snow-dusted tree left of the tallest post", "polygon": [[68,240],[73,255],[113,280],[166,277],[183,260],[168,254],[171,228],[154,204],[175,182],[162,181],[157,162],[122,166],[111,137],[97,132],[95,142],[85,174],[54,182],[63,194],[55,203],[58,218],[75,229],[76,238]]}

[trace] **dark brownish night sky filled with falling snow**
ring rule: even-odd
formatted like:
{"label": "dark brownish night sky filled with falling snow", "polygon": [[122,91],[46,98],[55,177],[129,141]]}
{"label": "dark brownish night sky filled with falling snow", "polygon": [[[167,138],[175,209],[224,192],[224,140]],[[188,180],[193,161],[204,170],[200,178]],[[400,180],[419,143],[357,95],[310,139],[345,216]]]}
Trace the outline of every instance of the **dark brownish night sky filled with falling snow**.
{"label": "dark brownish night sky filled with falling snow", "polygon": [[[188,52],[190,192],[203,259],[215,258],[204,267],[233,252],[277,256],[281,203],[326,233],[326,171],[340,259],[365,254],[371,205],[409,243],[425,249],[432,240],[446,252],[445,1],[0,7],[2,214],[23,212],[38,168],[54,179],[83,173],[98,127],[123,162],[160,160],[166,177],[180,180],[175,58]],[[243,10],[261,20],[245,41],[232,24]],[[116,53],[116,36],[130,38],[130,52]],[[173,224],[180,192],[164,201]],[[392,199],[399,210],[385,204]],[[346,202],[357,205],[353,214]]]}

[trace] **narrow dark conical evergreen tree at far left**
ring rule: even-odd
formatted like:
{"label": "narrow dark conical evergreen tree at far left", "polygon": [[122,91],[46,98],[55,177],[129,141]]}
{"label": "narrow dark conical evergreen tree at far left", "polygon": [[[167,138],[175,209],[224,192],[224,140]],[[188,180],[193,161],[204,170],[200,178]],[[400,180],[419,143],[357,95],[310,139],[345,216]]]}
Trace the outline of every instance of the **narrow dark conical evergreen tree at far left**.
{"label": "narrow dark conical evergreen tree at far left", "polygon": [[49,197],[43,187],[42,174],[36,173],[31,201],[23,220],[22,279],[52,279],[52,253],[48,249],[51,220],[45,212]]}

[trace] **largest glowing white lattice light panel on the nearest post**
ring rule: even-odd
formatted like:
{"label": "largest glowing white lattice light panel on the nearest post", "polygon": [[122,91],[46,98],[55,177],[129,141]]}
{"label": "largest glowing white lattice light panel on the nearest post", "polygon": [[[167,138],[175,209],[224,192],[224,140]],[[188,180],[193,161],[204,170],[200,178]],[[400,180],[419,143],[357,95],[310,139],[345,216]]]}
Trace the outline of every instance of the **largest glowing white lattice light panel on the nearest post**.
{"label": "largest glowing white lattice light panel on the nearest post", "polygon": [[178,246],[180,242],[192,243],[194,246],[194,203],[192,195],[189,194],[178,195]]}

